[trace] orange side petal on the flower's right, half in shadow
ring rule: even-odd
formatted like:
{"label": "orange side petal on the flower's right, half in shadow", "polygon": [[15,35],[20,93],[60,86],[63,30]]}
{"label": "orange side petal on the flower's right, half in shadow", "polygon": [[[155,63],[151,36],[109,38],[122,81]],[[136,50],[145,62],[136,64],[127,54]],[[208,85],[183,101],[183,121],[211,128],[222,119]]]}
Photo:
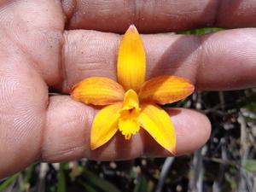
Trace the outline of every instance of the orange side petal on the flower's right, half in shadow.
{"label": "orange side petal on the flower's right, half in shadow", "polygon": [[145,82],[139,91],[140,101],[166,104],[189,96],[195,87],[188,79],[177,76],[159,76]]}

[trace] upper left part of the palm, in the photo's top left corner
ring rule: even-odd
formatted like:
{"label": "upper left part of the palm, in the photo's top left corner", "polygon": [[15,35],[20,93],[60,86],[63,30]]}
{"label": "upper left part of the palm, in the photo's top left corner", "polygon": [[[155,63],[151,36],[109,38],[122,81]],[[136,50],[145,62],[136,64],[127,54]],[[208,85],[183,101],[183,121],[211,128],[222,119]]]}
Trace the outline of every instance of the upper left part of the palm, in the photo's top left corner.
{"label": "upper left part of the palm, in the photo's top left corner", "polygon": [[0,1],[0,26],[1,48],[26,55],[47,84],[61,79],[64,15],[59,1]]}

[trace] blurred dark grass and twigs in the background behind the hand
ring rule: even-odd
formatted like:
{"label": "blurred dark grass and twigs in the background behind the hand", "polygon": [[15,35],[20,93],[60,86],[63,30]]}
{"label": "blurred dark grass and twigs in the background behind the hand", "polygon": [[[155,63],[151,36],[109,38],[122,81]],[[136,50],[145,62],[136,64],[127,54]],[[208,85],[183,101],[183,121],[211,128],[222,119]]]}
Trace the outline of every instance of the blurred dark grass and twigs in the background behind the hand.
{"label": "blurred dark grass and twigs in the background behind the hand", "polygon": [[[220,30],[202,28],[178,33],[202,35]],[[195,108],[211,120],[211,138],[194,154],[116,162],[86,159],[61,164],[38,162],[0,180],[0,191],[256,191],[255,88],[197,91],[170,106]]]}

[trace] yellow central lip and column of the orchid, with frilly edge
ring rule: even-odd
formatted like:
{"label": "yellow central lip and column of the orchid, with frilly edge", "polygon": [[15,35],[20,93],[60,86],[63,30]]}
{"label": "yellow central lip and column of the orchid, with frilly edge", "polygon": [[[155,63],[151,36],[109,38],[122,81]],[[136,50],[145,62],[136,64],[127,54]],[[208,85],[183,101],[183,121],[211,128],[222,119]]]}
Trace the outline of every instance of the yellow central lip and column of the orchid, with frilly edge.
{"label": "yellow central lip and column of the orchid, with frilly edge", "polygon": [[140,125],[137,122],[140,111],[137,93],[134,90],[127,90],[125,92],[123,108],[119,112],[119,131],[127,140],[140,129]]}

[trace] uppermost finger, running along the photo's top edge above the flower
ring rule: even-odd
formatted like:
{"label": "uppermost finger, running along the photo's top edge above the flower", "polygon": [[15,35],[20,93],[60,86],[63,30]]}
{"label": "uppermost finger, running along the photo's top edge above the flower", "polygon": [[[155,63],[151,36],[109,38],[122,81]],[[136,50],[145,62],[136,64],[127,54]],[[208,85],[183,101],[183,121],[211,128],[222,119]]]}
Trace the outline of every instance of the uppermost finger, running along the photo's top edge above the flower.
{"label": "uppermost finger, running along the photo's top edge above the flower", "polygon": [[168,32],[202,26],[256,26],[254,0],[62,1],[68,29],[125,32],[132,23],[141,32]]}

